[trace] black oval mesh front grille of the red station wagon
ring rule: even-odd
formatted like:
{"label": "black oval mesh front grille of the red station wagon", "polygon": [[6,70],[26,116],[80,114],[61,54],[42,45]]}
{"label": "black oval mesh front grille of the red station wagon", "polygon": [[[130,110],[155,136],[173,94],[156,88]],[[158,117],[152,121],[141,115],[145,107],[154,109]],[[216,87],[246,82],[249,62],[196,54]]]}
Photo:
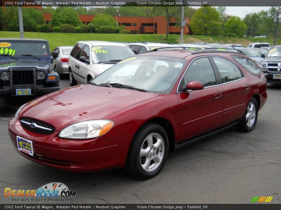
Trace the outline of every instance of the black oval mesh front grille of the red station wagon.
{"label": "black oval mesh front grille of the red station wagon", "polygon": [[[41,127],[48,128],[51,130],[45,130],[45,129],[37,128],[37,127],[32,128],[32,127],[30,127],[30,125],[23,123],[22,121],[29,122],[29,123],[36,123],[36,125],[39,125]],[[21,118],[20,125],[29,131],[39,133],[39,134],[52,134],[55,132],[55,128],[52,125],[49,125],[49,124],[39,121],[39,120],[30,119],[30,118]]]}

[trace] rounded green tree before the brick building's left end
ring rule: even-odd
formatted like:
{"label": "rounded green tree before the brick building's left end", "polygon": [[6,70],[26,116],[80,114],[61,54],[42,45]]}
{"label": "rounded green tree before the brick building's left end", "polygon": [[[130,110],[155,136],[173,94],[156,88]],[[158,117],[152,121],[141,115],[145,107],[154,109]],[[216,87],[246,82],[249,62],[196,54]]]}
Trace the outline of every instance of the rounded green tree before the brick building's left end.
{"label": "rounded green tree before the brick building's left end", "polygon": [[79,15],[73,7],[57,7],[52,13],[52,20],[50,22],[52,27],[60,26],[62,24],[71,24],[73,26],[80,26]]}

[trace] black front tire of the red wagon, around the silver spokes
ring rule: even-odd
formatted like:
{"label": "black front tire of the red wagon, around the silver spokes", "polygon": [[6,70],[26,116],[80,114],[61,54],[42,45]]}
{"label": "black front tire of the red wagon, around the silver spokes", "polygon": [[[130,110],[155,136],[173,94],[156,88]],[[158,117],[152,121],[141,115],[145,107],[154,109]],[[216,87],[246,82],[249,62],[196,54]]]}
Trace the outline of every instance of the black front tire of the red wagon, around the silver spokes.
{"label": "black front tire of the red wagon, around the silver spokes", "polygon": [[[151,136],[151,135],[153,136],[156,134],[158,134],[162,137],[164,146],[162,144],[162,147],[161,148],[159,147],[158,149],[155,147],[156,151],[153,147],[151,147],[152,149],[151,150],[148,149],[148,150],[150,150],[152,152],[150,153],[150,151],[148,151],[148,154],[150,153],[150,158],[151,158],[151,156],[155,155],[154,153],[156,153],[156,155],[161,156],[162,159],[159,162],[159,164],[157,164],[157,163],[155,164],[155,162],[153,160],[153,158],[155,156],[152,157],[152,159],[148,159],[148,161],[150,163],[150,164],[148,164],[149,167],[150,166],[153,167],[153,164],[154,164],[154,166],[156,168],[153,169],[153,171],[145,171],[145,169],[143,169],[142,163],[141,163],[141,158],[144,158],[144,157],[141,157],[140,150],[146,142],[145,139],[148,136]],[[155,137],[153,137],[153,142],[154,141],[156,141],[156,143],[157,143],[157,139],[155,139]],[[154,145],[155,145],[155,143],[153,143],[153,146]],[[148,146],[147,146],[147,148],[148,148]],[[143,149],[147,149],[147,148],[143,148]],[[164,148],[164,152],[163,152],[162,148]],[[153,149],[154,149],[154,151],[153,151]],[[167,156],[168,156],[168,150],[169,150],[169,141],[168,141],[168,135],[167,135],[167,132],[165,131],[165,129],[156,123],[145,123],[142,127],[140,127],[140,129],[138,129],[138,131],[136,132],[136,134],[133,137],[133,140],[131,142],[131,145],[130,145],[130,148],[128,151],[125,169],[128,172],[128,174],[130,174],[134,178],[141,179],[141,180],[152,178],[152,177],[156,176],[159,173],[159,171],[161,171],[161,169],[163,168],[163,166],[166,162]],[[147,161],[146,158],[145,158],[145,161]]]}

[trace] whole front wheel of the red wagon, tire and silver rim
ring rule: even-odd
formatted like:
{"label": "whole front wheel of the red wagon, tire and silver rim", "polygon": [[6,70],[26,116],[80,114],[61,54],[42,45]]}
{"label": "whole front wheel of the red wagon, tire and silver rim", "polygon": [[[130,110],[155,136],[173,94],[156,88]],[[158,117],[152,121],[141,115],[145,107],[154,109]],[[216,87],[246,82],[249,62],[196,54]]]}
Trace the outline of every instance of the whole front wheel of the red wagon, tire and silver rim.
{"label": "whole front wheel of the red wagon, tire and silver rim", "polygon": [[165,129],[155,123],[145,123],[133,137],[126,170],[138,179],[152,178],[163,168],[169,150]]}

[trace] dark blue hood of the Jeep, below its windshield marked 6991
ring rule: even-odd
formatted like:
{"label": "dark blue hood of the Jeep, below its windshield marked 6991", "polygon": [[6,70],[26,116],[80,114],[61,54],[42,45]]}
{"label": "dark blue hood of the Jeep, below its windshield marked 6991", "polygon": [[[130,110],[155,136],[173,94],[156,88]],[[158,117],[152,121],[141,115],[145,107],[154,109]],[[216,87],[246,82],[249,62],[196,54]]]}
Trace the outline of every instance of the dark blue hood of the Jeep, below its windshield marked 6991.
{"label": "dark blue hood of the Jeep, below its windshield marked 6991", "polygon": [[36,67],[37,69],[45,69],[47,66],[50,65],[49,62],[44,62],[40,60],[5,60],[0,61],[0,70],[1,69],[8,69],[12,67]]}

